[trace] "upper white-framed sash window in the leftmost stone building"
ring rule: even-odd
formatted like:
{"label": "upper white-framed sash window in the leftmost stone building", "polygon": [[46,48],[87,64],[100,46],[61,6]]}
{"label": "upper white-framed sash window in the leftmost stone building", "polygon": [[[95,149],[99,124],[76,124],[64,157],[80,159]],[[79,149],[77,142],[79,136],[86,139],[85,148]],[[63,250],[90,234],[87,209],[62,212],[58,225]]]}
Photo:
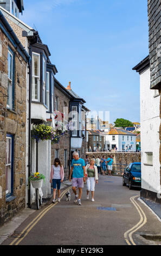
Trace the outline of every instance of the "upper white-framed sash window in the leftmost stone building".
{"label": "upper white-framed sash window in the leftmost stone building", "polygon": [[8,51],[8,99],[7,107],[14,108],[14,56],[11,51]]}

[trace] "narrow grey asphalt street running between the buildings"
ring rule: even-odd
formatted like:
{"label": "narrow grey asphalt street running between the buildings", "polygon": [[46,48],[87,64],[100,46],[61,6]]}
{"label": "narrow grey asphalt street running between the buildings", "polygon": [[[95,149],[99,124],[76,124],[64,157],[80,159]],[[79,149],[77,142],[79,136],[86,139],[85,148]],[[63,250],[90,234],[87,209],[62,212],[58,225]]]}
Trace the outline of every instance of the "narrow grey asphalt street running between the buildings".
{"label": "narrow grey asphalt street running between the buildings", "polygon": [[[127,245],[125,233],[133,227],[140,228],[133,229],[136,232],[131,239],[130,233],[126,233],[128,243],[133,241],[136,245],[145,245],[148,243],[140,234],[150,234],[154,230],[155,234],[160,233],[161,223],[156,216],[137,197],[134,203],[130,200],[134,196],[139,197],[139,190],[123,187],[120,176],[99,177],[95,186],[95,202],[91,202],[91,197],[86,199],[86,184],[81,206],[74,204],[74,194],[72,190],[70,192],[70,202],[66,202],[63,196],[60,203],[43,206],[2,245]],[[138,205],[138,210],[134,204]],[[139,212],[145,214],[142,221]],[[139,222],[142,227],[137,225]]]}

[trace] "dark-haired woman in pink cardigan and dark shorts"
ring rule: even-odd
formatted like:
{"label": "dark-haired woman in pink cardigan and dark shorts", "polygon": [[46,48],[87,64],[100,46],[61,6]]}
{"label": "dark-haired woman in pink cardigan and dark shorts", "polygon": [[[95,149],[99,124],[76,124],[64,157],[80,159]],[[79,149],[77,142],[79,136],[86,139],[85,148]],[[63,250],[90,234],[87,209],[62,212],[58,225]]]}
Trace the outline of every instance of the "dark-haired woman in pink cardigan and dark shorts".
{"label": "dark-haired woman in pink cardigan and dark shorts", "polygon": [[53,181],[53,201],[52,203],[55,204],[55,197],[56,197],[56,186],[57,186],[57,202],[60,202],[60,186],[61,182],[63,182],[65,173],[63,166],[59,160],[59,158],[56,158],[54,161],[54,165],[51,166],[51,172],[50,172],[50,183]]}

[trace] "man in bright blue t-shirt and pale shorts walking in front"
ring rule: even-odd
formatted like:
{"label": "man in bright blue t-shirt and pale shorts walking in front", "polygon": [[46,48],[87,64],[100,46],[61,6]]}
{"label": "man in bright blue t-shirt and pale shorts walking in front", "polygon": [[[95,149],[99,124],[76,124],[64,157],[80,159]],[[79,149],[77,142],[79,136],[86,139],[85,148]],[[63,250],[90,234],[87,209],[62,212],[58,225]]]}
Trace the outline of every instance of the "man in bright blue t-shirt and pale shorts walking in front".
{"label": "man in bright blue t-shirt and pale shorts walking in front", "polygon": [[[69,181],[71,181],[71,176],[73,173],[73,181],[72,181],[72,190],[75,194],[76,203],[78,201],[78,205],[81,205],[81,197],[82,197],[82,187],[84,187],[84,182],[86,181],[86,169],[85,169],[85,161],[79,158],[78,152],[73,153],[72,167],[70,169]],[[79,197],[76,193],[76,187],[79,188]]]}

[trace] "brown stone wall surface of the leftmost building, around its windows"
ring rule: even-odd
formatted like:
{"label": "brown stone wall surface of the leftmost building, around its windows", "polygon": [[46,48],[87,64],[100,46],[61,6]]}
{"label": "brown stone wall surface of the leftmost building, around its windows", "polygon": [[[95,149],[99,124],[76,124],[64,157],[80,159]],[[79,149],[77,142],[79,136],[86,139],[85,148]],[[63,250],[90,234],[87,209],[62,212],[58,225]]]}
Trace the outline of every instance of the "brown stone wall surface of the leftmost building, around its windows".
{"label": "brown stone wall surface of the leftmost building, around its windows", "polygon": [[[9,220],[16,212],[25,207],[25,154],[26,154],[26,69],[27,64],[12,47],[8,38],[0,30],[0,225]],[[15,52],[15,109],[7,109],[8,94],[8,45]],[[3,93],[3,94],[2,94]],[[5,148],[6,135],[14,135],[14,192],[16,198],[6,202],[5,197]]]}

